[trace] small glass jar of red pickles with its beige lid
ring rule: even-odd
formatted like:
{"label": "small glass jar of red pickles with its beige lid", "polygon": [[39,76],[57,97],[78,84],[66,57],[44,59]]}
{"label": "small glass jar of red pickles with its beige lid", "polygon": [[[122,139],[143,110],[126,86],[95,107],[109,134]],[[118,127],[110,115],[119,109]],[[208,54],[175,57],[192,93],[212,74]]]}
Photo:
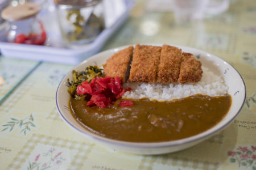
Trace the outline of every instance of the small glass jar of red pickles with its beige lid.
{"label": "small glass jar of red pickles with its beige lid", "polygon": [[1,16],[9,25],[6,30],[6,41],[20,44],[44,45],[46,31],[43,23],[36,18],[40,6],[24,3],[18,6],[7,6]]}

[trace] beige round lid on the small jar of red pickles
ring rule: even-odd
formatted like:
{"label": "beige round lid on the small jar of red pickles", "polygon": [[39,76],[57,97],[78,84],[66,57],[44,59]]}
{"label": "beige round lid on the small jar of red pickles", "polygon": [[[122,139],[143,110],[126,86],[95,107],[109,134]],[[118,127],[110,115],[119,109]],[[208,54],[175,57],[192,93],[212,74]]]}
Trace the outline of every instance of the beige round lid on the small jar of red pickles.
{"label": "beige round lid on the small jar of red pickles", "polygon": [[35,16],[40,11],[40,6],[35,3],[24,3],[18,6],[7,6],[2,12],[1,17],[3,19],[13,21],[22,20]]}

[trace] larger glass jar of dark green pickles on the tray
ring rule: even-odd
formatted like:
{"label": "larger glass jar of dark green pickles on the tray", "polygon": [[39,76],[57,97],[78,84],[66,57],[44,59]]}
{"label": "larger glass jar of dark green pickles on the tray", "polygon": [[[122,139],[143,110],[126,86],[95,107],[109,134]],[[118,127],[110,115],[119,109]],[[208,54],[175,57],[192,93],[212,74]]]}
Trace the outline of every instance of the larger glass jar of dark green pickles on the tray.
{"label": "larger glass jar of dark green pickles on the tray", "polygon": [[105,28],[101,0],[55,0],[61,35],[68,47],[92,42]]}

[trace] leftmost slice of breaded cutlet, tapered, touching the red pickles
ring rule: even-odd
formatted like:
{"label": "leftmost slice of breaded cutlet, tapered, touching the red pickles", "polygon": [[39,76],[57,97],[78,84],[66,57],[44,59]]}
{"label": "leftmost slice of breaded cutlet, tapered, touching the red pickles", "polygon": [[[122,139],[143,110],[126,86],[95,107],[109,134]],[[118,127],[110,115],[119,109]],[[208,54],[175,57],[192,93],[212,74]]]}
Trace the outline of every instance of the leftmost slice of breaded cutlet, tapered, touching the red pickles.
{"label": "leftmost slice of breaded cutlet, tapered, touching the red pickles", "polygon": [[114,78],[119,76],[122,82],[129,77],[129,65],[133,57],[133,46],[129,46],[110,57],[104,65],[104,74]]}

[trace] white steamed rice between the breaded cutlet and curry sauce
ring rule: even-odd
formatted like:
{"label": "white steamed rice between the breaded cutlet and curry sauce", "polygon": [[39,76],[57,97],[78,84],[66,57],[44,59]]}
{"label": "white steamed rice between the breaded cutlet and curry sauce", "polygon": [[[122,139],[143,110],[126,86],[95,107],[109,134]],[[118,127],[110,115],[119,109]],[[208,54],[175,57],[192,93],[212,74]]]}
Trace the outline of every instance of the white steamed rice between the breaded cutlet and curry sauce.
{"label": "white steamed rice between the breaded cutlet and curry sauce", "polygon": [[180,99],[183,97],[202,94],[208,96],[221,96],[228,93],[224,79],[215,75],[207,67],[203,67],[203,77],[197,83],[170,83],[170,84],[147,84],[127,82],[124,86],[131,87],[131,91],[127,91],[123,97],[130,99],[155,99],[159,101]]}

